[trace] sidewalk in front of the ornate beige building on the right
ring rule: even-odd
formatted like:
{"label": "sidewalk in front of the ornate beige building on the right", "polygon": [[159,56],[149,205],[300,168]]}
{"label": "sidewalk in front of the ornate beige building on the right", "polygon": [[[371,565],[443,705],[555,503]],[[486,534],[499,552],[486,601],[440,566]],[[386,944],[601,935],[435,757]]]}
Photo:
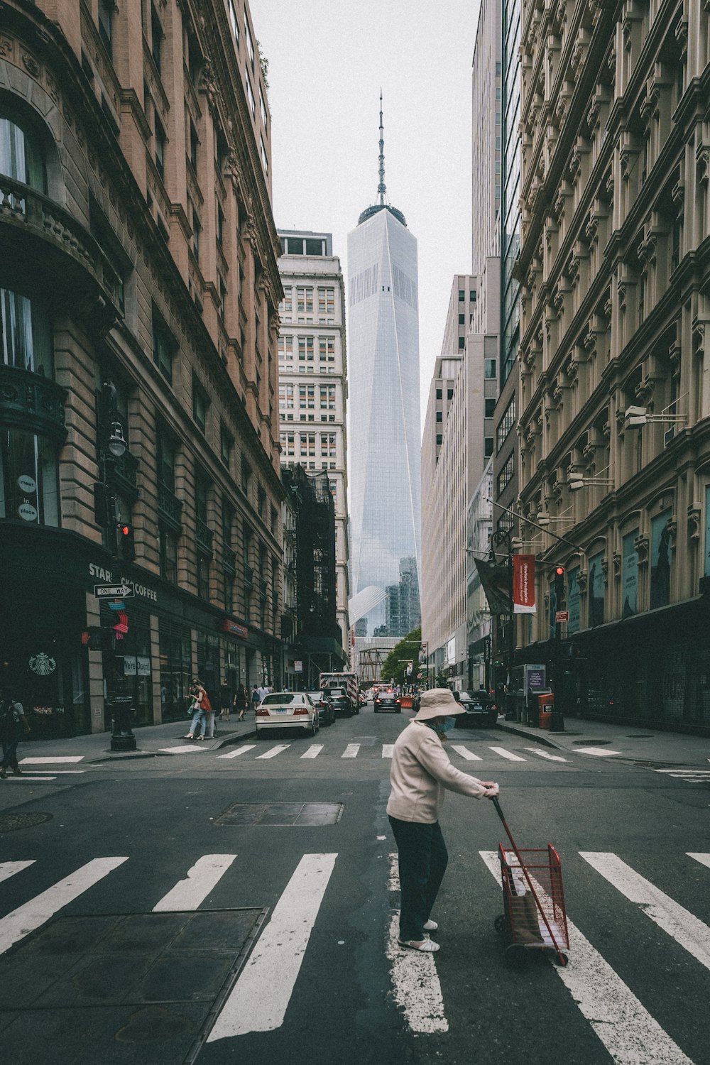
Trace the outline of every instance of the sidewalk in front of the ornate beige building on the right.
{"label": "sidewalk in front of the ornate beige building on the right", "polygon": [[498,728],[559,751],[597,748],[598,752],[604,751],[609,758],[632,761],[662,761],[677,766],[703,766],[707,769],[710,757],[710,738],[707,736],[663,732],[646,728],[643,724],[611,724],[606,721],[566,718],[564,732],[554,733],[548,728],[531,728],[516,721],[498,718]]}

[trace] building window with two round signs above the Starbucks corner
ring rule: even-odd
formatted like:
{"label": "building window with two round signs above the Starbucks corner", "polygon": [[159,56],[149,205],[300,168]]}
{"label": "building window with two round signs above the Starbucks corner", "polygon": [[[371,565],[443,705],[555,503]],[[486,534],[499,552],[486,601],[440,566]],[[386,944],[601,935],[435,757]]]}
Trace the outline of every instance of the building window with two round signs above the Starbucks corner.
{"label": "building window with two round signs above the Starbucks corner", "polygon": [[56,448],[44,437],[0,429],[0,519],[60,524]]}

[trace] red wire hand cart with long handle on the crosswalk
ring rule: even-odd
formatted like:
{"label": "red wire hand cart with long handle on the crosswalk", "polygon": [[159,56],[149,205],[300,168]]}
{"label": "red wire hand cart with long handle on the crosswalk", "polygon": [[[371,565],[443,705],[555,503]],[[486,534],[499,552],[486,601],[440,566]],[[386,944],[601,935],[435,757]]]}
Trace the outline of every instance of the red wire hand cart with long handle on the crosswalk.
{"label": "red wire hand cart with long handle on the crosswalk", "polygon": [[496,917],[495,928],[510,937],[507,956],[516,962],[526,950],[551,950],[566,965],[569,936],[560,855],[551,843],[545,850],[518,850],[500,803],[493,803],[512,845],[498,845],[505,913]]}

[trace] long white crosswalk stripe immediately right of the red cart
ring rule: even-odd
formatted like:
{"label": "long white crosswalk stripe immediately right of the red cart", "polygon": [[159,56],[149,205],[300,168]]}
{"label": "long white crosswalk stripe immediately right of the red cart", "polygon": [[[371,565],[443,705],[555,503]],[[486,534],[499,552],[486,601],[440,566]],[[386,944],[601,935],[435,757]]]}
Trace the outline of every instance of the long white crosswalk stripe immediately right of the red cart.
{"label": "long white crosswalk stripe immediately right of the red cart", "polygon": [[580,851],[579,854],[630,902],[638,903],[651,921],[667,932],[700,965],[710,969],[710,928],[707,924],[615,854],[598,851]]}

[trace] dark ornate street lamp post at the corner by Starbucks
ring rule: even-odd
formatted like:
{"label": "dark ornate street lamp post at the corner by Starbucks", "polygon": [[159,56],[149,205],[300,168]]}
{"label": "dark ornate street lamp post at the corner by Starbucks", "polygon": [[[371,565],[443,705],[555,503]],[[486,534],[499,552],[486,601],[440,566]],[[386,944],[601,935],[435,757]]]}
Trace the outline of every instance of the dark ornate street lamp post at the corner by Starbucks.
{"label": "dark ornate street lamp post at the corner by Starbucks", "polygon": [[[116,407],[116,389],[110,382],[104,382],[101,389],[101,400],[103,406],[104,437],[101,441],[100,462],[101,481],[99,482],[99,496],[102,506],[100,517],[106,534],[106,545],[111,553],[111,568],[114,579],[120,580],[120,566],[118,558],[118,521],[116,514],[116,462],[126,454],[126,439],[123,429],[118,421]],[[127,526],[127,531],[132,545],[132,528]],[[111,750],[112,751],[135,751],[135,736],[131,730],[131,697],[125,691],[118,690],[117,656],[113,645],[115,636],[112,634],[112,643],[109,650],[109,676],[106,677],[106,703],[111,714]],[[105,662],[105,659],[104,659]]]}

